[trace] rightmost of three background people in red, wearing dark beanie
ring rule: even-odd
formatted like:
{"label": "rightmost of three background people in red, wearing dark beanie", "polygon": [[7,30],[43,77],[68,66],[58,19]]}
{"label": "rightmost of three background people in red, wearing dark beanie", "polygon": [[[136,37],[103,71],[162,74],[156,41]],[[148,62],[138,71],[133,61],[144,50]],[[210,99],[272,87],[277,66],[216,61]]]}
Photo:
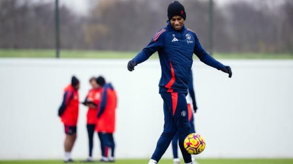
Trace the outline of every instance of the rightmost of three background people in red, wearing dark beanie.
{"label": "rightmost of three background people in red, wearing dark beanie", "polygon": [[[97,83],[103,87],[101,103],[97,113],[97,125],[95,128],[101,141],[101,162],[114,162],[115,142],[113,133],[115,131],[117,95],[112,84],[105,83],[104,77],[99,76],[97,78]],[[109,148],[111,149],[111,155],[108,155]]]}

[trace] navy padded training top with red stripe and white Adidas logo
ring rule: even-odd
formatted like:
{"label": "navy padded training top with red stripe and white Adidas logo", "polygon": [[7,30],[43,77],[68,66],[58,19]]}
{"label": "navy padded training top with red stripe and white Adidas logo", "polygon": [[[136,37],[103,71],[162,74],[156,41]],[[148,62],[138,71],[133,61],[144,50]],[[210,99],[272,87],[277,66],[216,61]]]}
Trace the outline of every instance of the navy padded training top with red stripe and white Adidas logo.
{"label": "navy padded training top with red stripe and white Adidas logo", "polygon": [[140,64],[158,51],[162,75],[159,82],[159,93],[188,92],[188,83],[195,54],[203,63],[220,70],[225,67],[201,46],[196,34],[183,26],[175,30],[170,22],[159,30],[148,45],[132,61]]}

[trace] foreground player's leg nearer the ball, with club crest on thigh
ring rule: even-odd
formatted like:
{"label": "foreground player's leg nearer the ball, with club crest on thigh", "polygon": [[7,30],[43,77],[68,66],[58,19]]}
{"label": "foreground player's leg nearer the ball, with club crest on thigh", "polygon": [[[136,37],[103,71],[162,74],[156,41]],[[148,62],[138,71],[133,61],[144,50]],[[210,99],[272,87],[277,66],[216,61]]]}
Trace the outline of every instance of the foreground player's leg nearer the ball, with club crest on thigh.
{"label": "foreground player's leg nearer the ball, with club crest on thigh", "polygon": [[174,121],[178,128],[179,134],[179,147],[184,159],[185,164],[191,164],[191,155],[184,148],[184,139],[190,133],[190,125],[188,121],[188,107],[186,102],[186,95],[184,93],[178,93],[177,109],[174,113]]}

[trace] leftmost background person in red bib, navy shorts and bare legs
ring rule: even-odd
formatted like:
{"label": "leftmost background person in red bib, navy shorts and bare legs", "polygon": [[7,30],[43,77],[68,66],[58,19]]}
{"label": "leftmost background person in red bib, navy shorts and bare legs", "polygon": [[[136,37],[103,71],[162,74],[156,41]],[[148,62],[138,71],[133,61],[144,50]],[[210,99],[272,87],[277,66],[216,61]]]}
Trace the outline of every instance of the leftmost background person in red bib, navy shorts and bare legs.
{"label": "leftmost background person in red bib, navy shorts and bare legs", "polygon": [[76,125],[79,109],[79,88],[79,80],[75,76],[72,76],[71,84],[69,84],[64,89],[63,102],[58,110],[58,115],[61,117],[61,121],[64,124],[66,134],[64,141],[65,163],[73,162],[71,159],[71,150],[76,140]]}

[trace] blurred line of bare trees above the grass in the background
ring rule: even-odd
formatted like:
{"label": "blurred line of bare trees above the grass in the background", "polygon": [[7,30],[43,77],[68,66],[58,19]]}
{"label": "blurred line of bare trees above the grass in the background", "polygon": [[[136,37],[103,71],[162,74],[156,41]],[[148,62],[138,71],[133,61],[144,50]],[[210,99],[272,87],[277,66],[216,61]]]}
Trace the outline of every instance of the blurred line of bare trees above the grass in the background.
{"label": "blurred line of bare trees above the grass in the background", "polygon": [[[86,1],[85,1],[86,2]],[[60,6],[61,47],[138,51],[166,26],[170,0],[90,1],[87,16]],[[209,46],[209,1],[181,0],[186,26]],[[213,45],[217,52],[293,53],[293,0],[214,3]],[[55,48],[54,1],[0,1],[0,48]]]}

